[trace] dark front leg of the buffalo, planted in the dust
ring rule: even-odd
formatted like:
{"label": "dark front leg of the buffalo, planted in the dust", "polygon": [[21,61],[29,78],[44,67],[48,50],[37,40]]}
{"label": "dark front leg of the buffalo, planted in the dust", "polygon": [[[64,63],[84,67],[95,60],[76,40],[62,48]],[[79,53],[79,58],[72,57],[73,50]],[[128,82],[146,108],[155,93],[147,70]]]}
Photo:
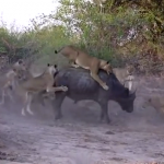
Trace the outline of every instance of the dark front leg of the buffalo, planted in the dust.
{"label": "dark front leg of the buffalo, planted in the dust", "polygon": [[107,106],[107,102],[99,102],[101,105],[101,120],[103,120],[104,118],[106,119],[106,122],[109,124],[110,119],[108,116],[108,106]]}

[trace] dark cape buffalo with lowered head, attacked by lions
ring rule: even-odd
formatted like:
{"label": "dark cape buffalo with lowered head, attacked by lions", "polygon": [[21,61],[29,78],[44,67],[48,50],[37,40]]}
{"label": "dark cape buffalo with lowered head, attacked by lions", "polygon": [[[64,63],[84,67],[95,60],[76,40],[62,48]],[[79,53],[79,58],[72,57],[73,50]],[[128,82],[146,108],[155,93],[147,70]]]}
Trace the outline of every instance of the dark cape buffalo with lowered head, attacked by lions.
{"label": "dark cape buffalo with lowered head, attacked by lions", "polygon": [[56,92],[56,98],[52,103],[55,109],[55,119],[60,119],[61,104],[66,96],[74,99],[75,102],[82,99],[92,99],[99,104],[101,120],[105,118],[106,122],[109,124],[110,119],[108,116],[108,101],[117,102],[122,110],[127,113],[133,112],[133,101],[136,98],[136,91],[130,93],[129,89],[125,87],[116,78],[114,73],[109,75],[99,70],[98,75],[109,86],[108,91],[103,90],[97,82],[95,82],[87,70],[81,68],[62,68],[55,77],[55,85],[68,86],[67,92]]}

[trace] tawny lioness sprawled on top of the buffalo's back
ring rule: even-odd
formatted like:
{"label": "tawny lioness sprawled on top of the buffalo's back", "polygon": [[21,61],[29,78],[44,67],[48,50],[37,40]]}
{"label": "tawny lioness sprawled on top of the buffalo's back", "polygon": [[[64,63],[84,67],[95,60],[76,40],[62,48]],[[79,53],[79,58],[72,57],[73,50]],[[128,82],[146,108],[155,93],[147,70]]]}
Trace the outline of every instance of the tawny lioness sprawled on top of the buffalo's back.
{"label": "tawny lioness sprawled on top of the buffalo's back", "polygon": [[109,61],[92,57],[71,45],[62,47],[59,51],[55,50],[55,54],[58,52],[61,52],[65,57],[67,57],[72,67],[81,67],[83,69],[90,70],[91,77],[97,81],[104,90],[108,90],[108,86],[101,80],[97,73],[99,69],[105,70],[108,74],[113,72],[113,68],[109,65]]}

